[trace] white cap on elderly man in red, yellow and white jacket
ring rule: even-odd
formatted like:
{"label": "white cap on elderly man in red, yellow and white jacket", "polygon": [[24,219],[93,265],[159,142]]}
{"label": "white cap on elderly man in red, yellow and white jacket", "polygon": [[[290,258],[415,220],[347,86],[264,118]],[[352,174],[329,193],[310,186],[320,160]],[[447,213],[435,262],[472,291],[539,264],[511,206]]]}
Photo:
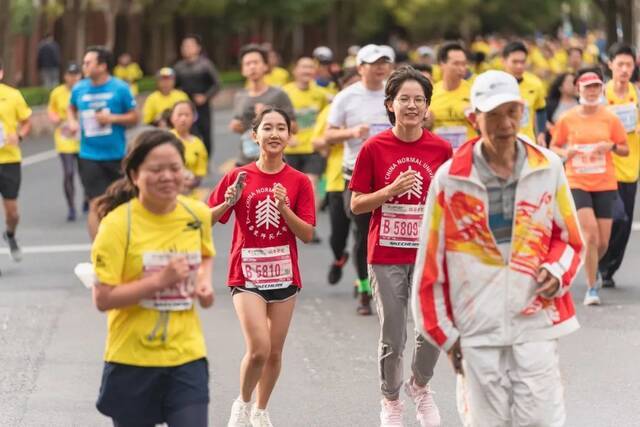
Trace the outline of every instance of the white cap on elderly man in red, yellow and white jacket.
{"label": "white cap on elderly man in red, yellow and white jacket", "polygon": [[523,102],[518,81],[504,71],[489,70],[476,77],[471,86],[471,106],[486,113],[507,102]]}

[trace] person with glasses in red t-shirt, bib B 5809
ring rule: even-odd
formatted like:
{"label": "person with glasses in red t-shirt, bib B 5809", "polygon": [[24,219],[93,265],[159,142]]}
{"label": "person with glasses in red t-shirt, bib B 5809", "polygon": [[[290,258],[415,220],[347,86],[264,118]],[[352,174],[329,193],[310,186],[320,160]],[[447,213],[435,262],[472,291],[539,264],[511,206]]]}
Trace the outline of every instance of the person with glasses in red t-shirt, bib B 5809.
{"label": "person with glasses in red t-shirt, bib B 5809", "polygon": [[[353,213],[371,212],[367,263],[380,319],[380,423],[384,426],[402,425],[402,353],[422,213],[433,175],[452,156],[448,142],[422,128],[432,91],[427,78],[412,67],[391,74],[385,106],[393,128],[364,143],[349,183]],[[417,332],[413,341],[412,375],[405,391],[416,404],[420,425],[437,426],[440,413],[429,381],[440,350]]]}

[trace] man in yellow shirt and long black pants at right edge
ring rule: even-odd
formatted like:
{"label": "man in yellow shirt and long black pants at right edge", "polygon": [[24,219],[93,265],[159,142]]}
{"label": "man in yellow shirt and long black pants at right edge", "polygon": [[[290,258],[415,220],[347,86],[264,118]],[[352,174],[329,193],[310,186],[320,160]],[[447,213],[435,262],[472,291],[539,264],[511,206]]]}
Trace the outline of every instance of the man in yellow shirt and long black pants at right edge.
{"label": "man in yellow shirt and long black pants at right edge", "polygon": [[625,249],[631,236],[633,210],[640,172],[640,136],[638,135],[638,92],[630,82],[635,66],[635,50],[616,43],[609,51],[609,69],[612,80],[606,85],[605,96],[609,109],[622,121],[627,132],[629,155],[613,154],[613,165],[618,181],[618,195],[622,200],[627,220],[614,216],[609,248],[600,259],[598,269],[603,287],[614,287],[613,275],[622,265]]}

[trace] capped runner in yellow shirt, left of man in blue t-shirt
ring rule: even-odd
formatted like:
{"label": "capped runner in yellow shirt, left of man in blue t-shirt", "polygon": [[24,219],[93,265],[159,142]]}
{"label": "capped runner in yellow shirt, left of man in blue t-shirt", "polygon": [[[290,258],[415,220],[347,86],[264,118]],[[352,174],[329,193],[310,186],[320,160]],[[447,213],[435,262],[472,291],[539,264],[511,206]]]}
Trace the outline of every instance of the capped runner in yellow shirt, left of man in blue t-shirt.
{"label": "capped runner in yellow shirt, left of man in blue t-shirt", "polygon": [[62,187],[67,201],[67,221],[76,220],[75,206],[75,174],[80,151],[80,136],[72,132],[67,122],[67,111],[71,99],[71,88],[82,78],[82,71],[77,64],[69,64],[64,74],[64,83],[51,91],[47,113],[49,120],[56,126],[53,139],[56,151],[62,162]]}

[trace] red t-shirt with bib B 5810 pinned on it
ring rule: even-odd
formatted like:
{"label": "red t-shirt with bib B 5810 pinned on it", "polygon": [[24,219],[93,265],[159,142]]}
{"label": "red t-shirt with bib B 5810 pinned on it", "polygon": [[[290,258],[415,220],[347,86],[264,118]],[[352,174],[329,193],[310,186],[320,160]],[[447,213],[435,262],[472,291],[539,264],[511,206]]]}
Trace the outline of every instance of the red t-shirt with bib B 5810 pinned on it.
{"label": "red t-shirt with bib B 5810 pinned on it", "polygon": [[209,196],[209,206],[224,202],[227,187],[238,172],[247,172],[246,185],[238,202],[220,218],[225,224],[235,212],[233,241],[229,259],[229,286],[256,286],[273,289],[290,283],[301,287],[296,236],[275,206],[273,186],[287,189],[287,205],[304,222],[315,226],[316,209],[309,178],[285,165],[275,174],[267,174],[255,163],[226,174]]}

